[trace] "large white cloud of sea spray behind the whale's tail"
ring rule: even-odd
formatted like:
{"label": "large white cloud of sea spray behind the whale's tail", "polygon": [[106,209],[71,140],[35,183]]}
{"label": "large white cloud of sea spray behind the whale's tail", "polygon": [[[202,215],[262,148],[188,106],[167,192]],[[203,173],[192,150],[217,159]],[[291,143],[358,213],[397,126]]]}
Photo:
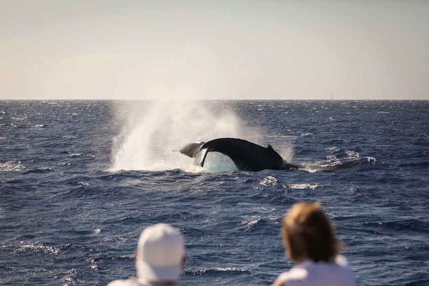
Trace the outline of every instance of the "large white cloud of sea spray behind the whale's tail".
{"label": "large white cloud of sea spray behind the whale's tail", "polygon": [[[246,137],[238,116],[216,102],[124,101],[116,103],[114,113],[120,130],[112,149],[112,172],[187,170],[193,159],[173,150],[196,140]],[[225,158],[221,164],[233,169]]]}

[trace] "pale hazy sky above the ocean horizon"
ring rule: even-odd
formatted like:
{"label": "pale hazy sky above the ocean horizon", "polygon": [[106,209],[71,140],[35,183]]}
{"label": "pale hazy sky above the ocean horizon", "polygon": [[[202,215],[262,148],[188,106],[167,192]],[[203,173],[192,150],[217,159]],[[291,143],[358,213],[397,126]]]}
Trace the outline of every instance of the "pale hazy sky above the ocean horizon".
{"label": "pale hazy sky above the ocean horizon", "polygon": [[429,100],[429,1],[0,0],[0,99]]}

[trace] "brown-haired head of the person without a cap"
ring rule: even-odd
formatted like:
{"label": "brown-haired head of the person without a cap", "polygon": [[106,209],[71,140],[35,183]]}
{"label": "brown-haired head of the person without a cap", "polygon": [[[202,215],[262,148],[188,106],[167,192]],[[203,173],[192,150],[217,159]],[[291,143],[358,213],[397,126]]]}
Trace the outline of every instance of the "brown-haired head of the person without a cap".
{"label": "brown-haired head of the person without a cap", "polygon": [[295,203],[283,218],[282,236],[287,256],[297,262],[332,261],[340,246],[319,203]]}

